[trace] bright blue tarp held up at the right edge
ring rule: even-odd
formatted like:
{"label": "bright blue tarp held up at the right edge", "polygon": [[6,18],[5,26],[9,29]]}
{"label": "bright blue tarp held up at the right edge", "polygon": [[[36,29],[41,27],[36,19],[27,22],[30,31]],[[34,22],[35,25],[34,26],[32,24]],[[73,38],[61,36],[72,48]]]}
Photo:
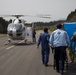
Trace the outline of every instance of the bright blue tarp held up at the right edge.
{"label": "bright blue tarp held up at the right edge", "polygon": [[76,22],[64,23],[64,29],[69,35],[70,42],[72,45],[72,52],[76,52],[76,50],[75,50],[76,42],[71,41],[72,35],[76,32]]}

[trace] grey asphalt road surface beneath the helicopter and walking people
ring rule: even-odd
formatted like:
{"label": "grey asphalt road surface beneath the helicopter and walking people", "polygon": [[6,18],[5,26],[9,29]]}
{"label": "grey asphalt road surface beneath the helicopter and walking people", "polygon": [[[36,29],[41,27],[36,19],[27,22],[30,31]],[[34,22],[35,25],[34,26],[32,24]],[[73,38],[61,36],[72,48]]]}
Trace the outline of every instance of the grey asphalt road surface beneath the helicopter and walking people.
{"label": "grey asphalt road surface beneath the helicopter and walking people", "polygon": [[[38,38],[37,33],[37,38]],[[7,37],[0,38],[0,75],[60,75],[53,69],[53,54],[50,51],[48,67],[41,62],[41,50],[35,43],[15,41],[4,45]],[[64,75],[76,75],[68,74]]]}

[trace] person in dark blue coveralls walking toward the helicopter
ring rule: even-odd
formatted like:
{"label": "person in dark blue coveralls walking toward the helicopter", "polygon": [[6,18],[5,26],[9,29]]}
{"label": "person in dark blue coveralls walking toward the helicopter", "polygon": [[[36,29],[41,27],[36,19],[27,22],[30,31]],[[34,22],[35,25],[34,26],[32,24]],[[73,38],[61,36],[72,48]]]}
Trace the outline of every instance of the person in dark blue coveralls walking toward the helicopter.
{"label": "person in dark blue coveralls walking toward the helicopter", "polygon": [[45,66],[48,66],[49,61],[49,53],[50,53],[49,38],[50,35],[48,34],[48,29],[44,28],[44,33],[40,34],[39,36],[37,48],[39,48],[39,45],[41,43],[42,63]]}

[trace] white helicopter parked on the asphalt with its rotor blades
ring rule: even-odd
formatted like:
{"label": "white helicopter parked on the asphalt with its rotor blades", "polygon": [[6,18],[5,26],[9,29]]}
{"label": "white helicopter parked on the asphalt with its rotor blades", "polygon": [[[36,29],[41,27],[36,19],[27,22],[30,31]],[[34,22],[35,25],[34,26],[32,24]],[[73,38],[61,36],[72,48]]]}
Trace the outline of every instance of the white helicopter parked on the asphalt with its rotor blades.
{"label": "white helicopter parked on the asphalt with its rotor blades", "polygon": [[[29,15],[8,15],[8,16],[13,16],[16,17],[16,19],[12,22],[12,20],[10,20],[10,24],[7,27],[7,35],[8,35],[8,40],[6,41],[5,45],[8,43],[11,43],[11,40],[24,40],[24,42],[26,42],[29,38],[31,37],[32,39],[32,31],[33,31],[33,27],[25,27],[24,23],[19,19],[19,17],[22,16],[29,16]],[[48,16],[41,16],[41,15],[37,15],[40,18],[50,18]]]}

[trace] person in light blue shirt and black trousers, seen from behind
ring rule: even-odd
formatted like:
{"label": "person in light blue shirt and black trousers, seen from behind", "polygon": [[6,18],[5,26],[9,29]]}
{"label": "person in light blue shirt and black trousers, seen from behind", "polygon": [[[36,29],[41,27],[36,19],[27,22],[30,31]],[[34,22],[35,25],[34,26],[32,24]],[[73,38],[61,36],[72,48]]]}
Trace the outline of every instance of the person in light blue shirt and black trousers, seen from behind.
{"label": "person in light blue shirt and black trousers, seen from behind", "polygon": [[[63,73],[66,47],[70,45],[70,39],[67,32],[62,30],[62,27],[62,24],[57,25],[57,29],[50,35],[49,42],[55,50],[56,71],[59,72],[60,65],[61,72]],[[59,61],[61,61],[60,64]]]}

